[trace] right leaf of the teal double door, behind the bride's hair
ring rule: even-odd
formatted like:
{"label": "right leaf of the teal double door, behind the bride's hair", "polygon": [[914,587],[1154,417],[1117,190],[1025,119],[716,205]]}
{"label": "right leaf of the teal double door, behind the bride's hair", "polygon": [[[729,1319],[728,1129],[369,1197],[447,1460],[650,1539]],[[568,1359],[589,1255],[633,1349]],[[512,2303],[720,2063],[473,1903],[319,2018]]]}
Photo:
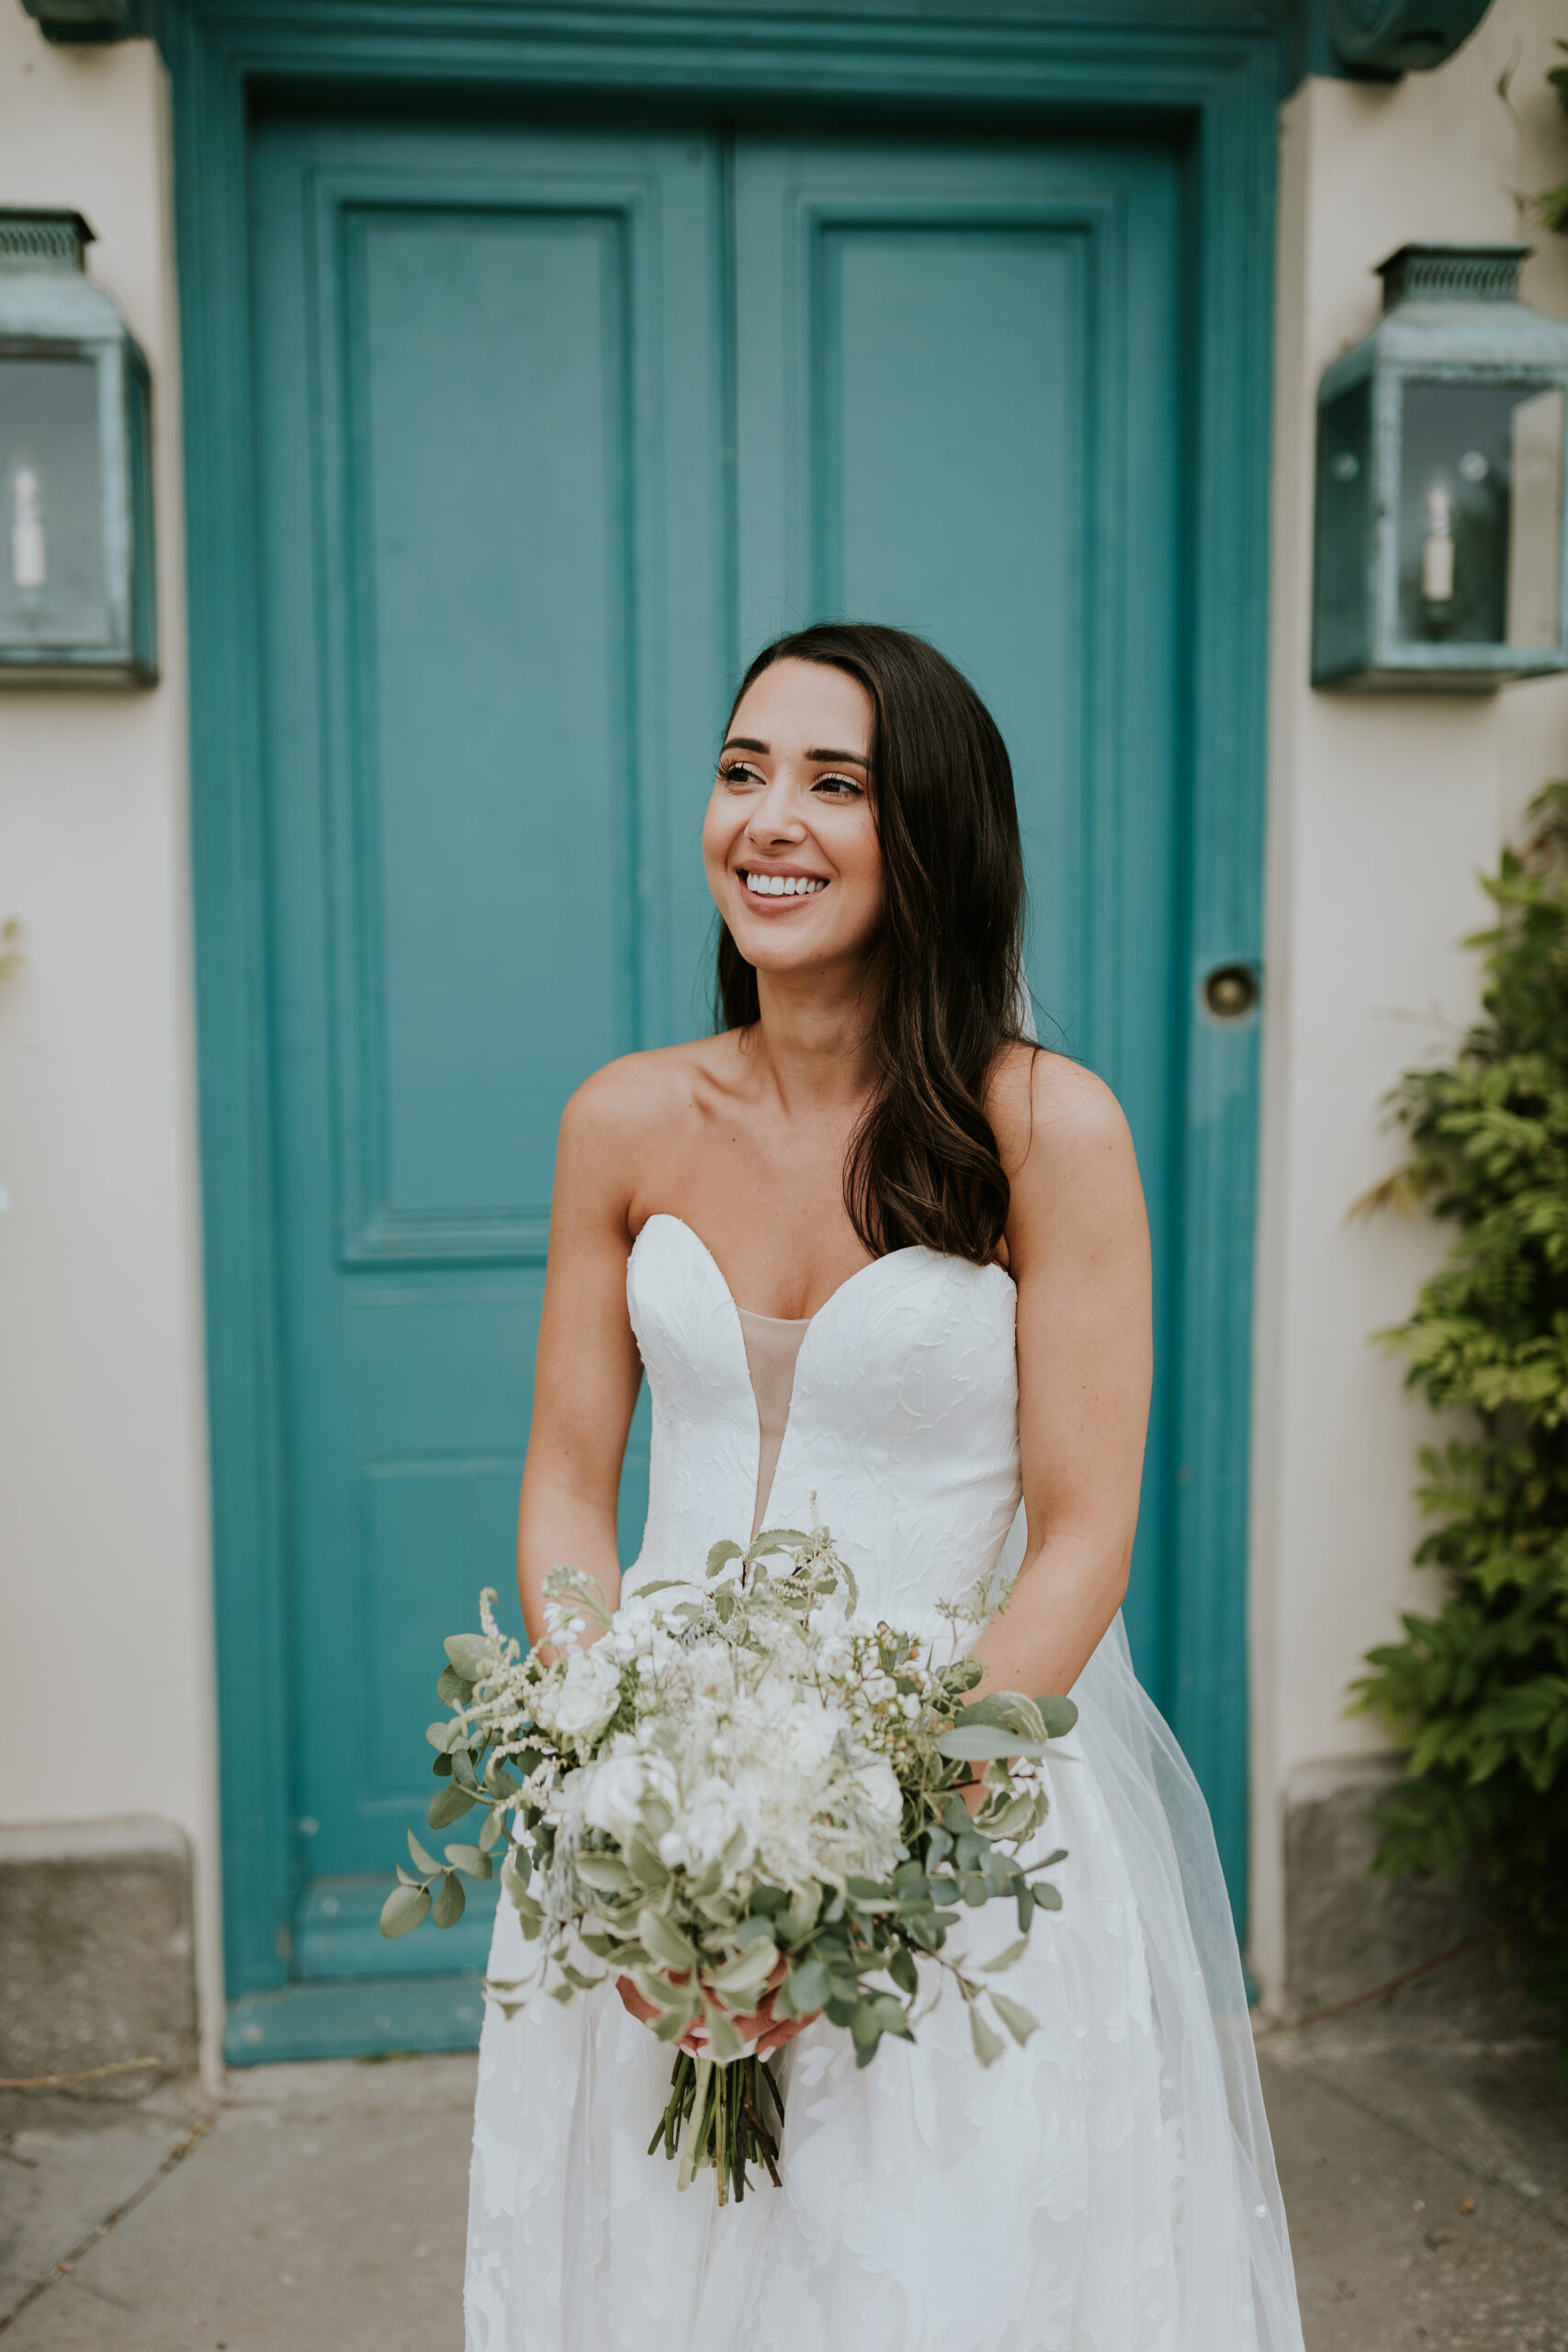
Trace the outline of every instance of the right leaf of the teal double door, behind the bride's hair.
{"label": "right leaf of the teal double door, behind the bride's hair", "polygon": [[[1175,1244],[1185,1002],[1175,708],[1180,202],[1157,146],[743,141],[743,652],[891,621],[973,677],[1013,757],[1048,1044],[1121,1096]],[[1171,1315],[1126,1618],[1168,1670]]]}

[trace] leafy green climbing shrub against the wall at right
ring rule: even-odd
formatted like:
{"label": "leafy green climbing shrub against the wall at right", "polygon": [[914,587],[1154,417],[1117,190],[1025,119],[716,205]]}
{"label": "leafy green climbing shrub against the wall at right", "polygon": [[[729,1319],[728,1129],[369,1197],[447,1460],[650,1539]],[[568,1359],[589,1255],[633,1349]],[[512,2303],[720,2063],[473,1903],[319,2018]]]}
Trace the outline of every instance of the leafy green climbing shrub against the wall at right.
{"label": "leafy green climbing shrub against the wall at right", "polygon": [[[1568,68],[1559,75],[1568,85]],[[1356,1684],[1406,1750],[1378,1870],[1479,1860],[1537,1933],[1537,1990],[1568,1999],[1568,783],[1486,882],[1497,922],[1481,1018],[1450,1063],[1394,1094],[1410,1164],[1371,1200],[1455,1228],[1415,1315],[1382,1338],[1408,1385],[1472,1430],[1422,1449],[1443,1571],[1432,1616],[1368,1653]]]}

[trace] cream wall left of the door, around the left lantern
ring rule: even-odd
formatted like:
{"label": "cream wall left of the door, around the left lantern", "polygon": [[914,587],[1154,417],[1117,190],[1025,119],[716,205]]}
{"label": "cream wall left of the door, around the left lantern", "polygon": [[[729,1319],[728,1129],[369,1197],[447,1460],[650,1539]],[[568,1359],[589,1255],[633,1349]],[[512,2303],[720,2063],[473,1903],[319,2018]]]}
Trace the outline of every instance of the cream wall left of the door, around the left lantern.
{"label": "cream wall left of the door, around the left lantern", "polygon": [[221,2016],[179,348],[150,42],[0,5],[0,205],[71,205],[148,353],[162,684],[0,687],[0,1820],[160,1813]]}

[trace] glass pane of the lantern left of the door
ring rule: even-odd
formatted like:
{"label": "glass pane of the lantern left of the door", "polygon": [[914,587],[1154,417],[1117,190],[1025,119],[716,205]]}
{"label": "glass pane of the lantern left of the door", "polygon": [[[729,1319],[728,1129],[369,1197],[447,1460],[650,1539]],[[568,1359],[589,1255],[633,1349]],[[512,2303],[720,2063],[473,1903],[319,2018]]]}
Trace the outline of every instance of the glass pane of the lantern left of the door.
{"label": "glass pane of the lantern left of the door", "polygon": [[92,360],[0,358],[0,642],[108,642]]}

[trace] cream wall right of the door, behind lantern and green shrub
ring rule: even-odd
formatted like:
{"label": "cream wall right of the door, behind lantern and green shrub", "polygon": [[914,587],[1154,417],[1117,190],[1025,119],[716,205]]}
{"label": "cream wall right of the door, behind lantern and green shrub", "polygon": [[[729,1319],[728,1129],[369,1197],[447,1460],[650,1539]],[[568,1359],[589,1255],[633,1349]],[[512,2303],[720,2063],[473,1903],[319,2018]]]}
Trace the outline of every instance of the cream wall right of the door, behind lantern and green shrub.
{"label": "cream wall right of the door, behind lantern and green shrub", "polygon": [[[1521,240],[1530,301],[1568,315],[1568,240],[1528,191],[1568,179],[1544,85],[1552,0],[1497,0],[1436,73],[1305,82],[1281,113],[1274,621],[1262,1216],[1253,1446],[1253,1962],[1281,1983],[1281,1811],[1291,1773],[1378,1745],[1345,1689],[1401,1606],[1429,1416],[1368,1334],[1436,1258],[1429,1225],[1347,1218],[1399,1160],[1380,1101],[1474,1007],[1458,941],[1476,873],[1530,793],[1568,769],[1568,684],[1490,696],[1307,687],[1312,437],[1324,367],[1378,318],[1373,266],[1410,238]],[[1497,85],[1505,82],[1505,94]]]}

